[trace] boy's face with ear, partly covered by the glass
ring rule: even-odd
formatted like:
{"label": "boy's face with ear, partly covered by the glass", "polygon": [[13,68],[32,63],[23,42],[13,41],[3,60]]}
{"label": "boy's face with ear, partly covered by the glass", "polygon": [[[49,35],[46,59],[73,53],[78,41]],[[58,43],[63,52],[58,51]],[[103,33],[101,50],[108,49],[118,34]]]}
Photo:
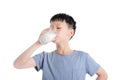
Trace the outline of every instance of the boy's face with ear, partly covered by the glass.
{"label": "boy's face with ear, partly covered by the glass", "polygon": [[74,30],[68,28],[68,24],[65,21],[53,21],[50,27],[56,33],[55,40],[53,41],[55,43],[68,42],[74,34]]}

